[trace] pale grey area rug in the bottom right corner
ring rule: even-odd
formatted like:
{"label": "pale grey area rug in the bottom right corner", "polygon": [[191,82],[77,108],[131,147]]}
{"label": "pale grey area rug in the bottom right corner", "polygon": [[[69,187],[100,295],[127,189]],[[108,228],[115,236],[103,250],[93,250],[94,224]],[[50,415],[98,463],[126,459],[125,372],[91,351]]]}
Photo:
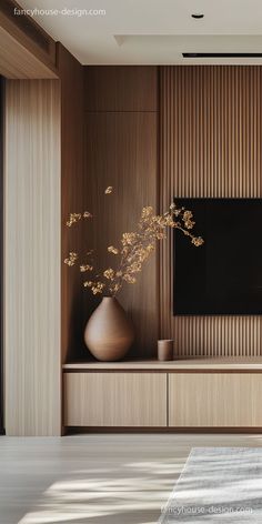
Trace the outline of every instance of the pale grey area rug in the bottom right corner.
{"label": "pale grey area rug in the bottom right corner", "polygon": [[262,523],[262,447],[193,447],[160,524]]}

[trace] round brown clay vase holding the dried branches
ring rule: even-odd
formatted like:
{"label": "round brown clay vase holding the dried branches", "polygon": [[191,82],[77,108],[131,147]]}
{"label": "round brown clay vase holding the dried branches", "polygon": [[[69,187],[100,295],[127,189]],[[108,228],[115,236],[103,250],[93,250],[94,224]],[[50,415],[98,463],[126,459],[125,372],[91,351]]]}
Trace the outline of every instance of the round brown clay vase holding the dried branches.
{"label": "round brown clay vase holding the dried branches", "polygon": [[104,296],[90,316],[84,342],[99,361],[121,360],[134,340],[132,323],[117,299]]}

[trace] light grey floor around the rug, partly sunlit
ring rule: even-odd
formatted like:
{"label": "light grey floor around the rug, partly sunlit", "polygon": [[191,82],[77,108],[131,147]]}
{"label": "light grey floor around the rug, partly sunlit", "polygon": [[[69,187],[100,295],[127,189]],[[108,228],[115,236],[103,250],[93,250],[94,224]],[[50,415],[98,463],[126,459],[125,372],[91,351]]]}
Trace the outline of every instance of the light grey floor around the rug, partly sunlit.
{"label": "light grey floor around the rug, partly sunlit", "polygon": [[262,435],[0,437],[0,524],[155,524],[192,446]]}

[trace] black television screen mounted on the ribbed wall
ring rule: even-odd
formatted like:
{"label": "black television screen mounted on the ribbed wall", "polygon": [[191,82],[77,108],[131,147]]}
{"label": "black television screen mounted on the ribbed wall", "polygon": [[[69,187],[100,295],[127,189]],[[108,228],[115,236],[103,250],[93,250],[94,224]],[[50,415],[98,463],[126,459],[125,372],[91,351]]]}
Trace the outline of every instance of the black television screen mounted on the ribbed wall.
{"label": "black television screen mounted on the ribbed wall", "polygon": [[262,199],[174,199],[194,214],[195,248],[174,230],[174,315],[262,314]]}

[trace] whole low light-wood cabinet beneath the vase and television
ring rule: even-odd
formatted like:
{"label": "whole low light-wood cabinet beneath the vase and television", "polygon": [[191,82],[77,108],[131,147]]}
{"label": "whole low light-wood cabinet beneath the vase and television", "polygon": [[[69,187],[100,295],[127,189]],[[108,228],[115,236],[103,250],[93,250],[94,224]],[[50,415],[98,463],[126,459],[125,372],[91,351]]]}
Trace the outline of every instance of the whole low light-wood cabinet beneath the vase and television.
{"label": "whole low light-wood cabinet beneath the vase and television", "polygon": [[64,369],[64,425],[262,429],[262,360],[75,363]]}

